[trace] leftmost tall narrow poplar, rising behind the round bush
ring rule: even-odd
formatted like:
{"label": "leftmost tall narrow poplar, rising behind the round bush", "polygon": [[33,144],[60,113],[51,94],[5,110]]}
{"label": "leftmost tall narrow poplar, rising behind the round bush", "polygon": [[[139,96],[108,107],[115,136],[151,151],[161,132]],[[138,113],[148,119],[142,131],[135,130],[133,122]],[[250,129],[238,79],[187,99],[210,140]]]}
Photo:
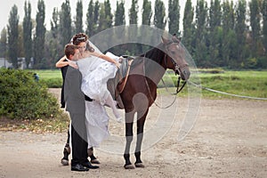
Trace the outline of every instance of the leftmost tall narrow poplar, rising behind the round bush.
{"label": "leftmost tall narrow poplar, rising behind the round bush", "polygon": [[19,20],[18,7],[12,6],[12,10],[9,15],[9,25],[7,26],[8,31],[8,56],[12,62],[12,66],[18,69],[18,49],[19,49]]}

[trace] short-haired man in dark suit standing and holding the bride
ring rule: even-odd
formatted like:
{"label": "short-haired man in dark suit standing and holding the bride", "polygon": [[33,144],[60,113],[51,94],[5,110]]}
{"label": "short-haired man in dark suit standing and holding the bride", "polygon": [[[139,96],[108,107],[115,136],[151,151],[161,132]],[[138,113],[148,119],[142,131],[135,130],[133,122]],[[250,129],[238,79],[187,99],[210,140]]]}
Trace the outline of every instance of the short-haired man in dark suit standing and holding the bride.
{"label": "short-haired man in dark suit standing and holding the bride", "polygon": [[[77,61],[79,50],[77,45],[67,44],[65,55],[70,61]],[[85,94],[81,91],[82,74],[69,65],[65,78],[64,97],[71,119],[72,159],[71,171],[88,171],[96,169],[87,159],[87,134],[85,127]]]}

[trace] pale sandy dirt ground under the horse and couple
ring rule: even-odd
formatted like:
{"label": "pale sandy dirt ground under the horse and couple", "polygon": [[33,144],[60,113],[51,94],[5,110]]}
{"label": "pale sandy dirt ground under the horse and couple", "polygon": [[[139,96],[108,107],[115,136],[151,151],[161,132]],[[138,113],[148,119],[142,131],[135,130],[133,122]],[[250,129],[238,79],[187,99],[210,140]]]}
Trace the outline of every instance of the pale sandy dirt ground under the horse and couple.
{"label": "pale sandy dirt ground under the horse and couple", "polygon": [[[53,91],[59,94],[58,90]],[[164,101],[172,101],[166,97]],[[267,102],[202,99],[190,134],[177,141],[182,117],[189,112],[187,99],[179,99],[174,122],[163,138],[149,134],[161,111],[153,105],[144,138],[155,140],[142,150],[145,168],[125,170],[122,154],[95,150],[101,168],[86,173],[61,166],[66,134],[0,132],[0,177],[266,177]],[[168,121],[166,121],[168,122]],[[154,123],[154,124],[153,124]],[[162,125],[165,125],[164,121]],[[124,124],[110,120],[111,135],[124,140]],[[157,134],[155,134],[157,137]],[[148,138],[150,137],[150,138]],[[144,142],[146,140],[144,139]],[[124,145],[122,145],[124,147]],[[134,162],[134,155],[131,155]]]}

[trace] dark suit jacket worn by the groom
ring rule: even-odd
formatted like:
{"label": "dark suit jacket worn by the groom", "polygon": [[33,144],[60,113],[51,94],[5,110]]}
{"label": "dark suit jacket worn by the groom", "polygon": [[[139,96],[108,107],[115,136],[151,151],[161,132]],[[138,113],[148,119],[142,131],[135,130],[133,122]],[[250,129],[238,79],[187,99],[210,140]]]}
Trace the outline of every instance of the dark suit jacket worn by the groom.
{"label": "dark suit jacket worn by the groom", "polygon": [[67,104],[66,110],[70,115],[85,115],[85,94],[81,91],[81,85],[81,72],[69,66],[65,77],[64,98]]}

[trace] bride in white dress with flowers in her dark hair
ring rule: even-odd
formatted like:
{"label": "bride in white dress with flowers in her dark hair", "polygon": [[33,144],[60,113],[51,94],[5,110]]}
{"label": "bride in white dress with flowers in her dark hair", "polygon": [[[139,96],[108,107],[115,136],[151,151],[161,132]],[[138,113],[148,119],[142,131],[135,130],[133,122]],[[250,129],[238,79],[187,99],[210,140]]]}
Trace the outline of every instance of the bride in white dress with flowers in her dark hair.
{"label": "bride in white dress with flowers in her dark hair", "polygon": [[120,67],[119,57],[112,53],[102,54],[83,33],[73,36],[72,41],[80,51],[77,67],[83,76],[81,90],[93,99],[85,101],[88,148],[99,147],[101,141],[109,136],[109,116],[104,105],[112,109],[118,122],[122,121],[117,103],[107,87],[109,78],[115,77]]}

